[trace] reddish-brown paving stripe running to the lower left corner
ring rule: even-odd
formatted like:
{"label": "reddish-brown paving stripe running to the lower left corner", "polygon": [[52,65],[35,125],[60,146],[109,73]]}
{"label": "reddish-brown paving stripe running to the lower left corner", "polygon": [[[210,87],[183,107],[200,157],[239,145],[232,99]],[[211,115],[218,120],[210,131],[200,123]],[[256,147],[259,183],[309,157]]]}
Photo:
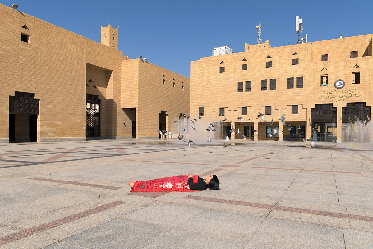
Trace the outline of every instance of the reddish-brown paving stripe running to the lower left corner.
{"label": "reddish-brown paving stripe running to the lower left corner", "polygon": [[109,209],[109,208],[113,208],[113,207],[121,205],[123,203],[124,202],[111,202],[111,203],[108,203],[108,204],[105,204],[105,205],[102,205],[102,206],[98,206],[97,208],[88,209],[86,211],[79,212],[77,214],[73,214],[73,215],[70,215],[70,216],[55,220],[55,221],[51,221],[51,222],[48,222],[48,223],[38,225],[36,227],[27,228],[25,230],[21,230],[21,231],[18,231],[16,233],[12,233],[12,234],[9,234],[7,236],[0,237],[0,246],[5,245],[9,242],[13,242],[13,241],[22,239],[22,238],[30,236],[32,234],[36,234],[36,233],[48,230],[48,229],[53,228],[53,227],[58,227],[59,225],[66,224],[66,223],[69,223],[71,221],[75,221],[75,220],[78,220],[80,218],[92,215],[92,214],[96,214],[98,212],[104,211],[104,210]]}

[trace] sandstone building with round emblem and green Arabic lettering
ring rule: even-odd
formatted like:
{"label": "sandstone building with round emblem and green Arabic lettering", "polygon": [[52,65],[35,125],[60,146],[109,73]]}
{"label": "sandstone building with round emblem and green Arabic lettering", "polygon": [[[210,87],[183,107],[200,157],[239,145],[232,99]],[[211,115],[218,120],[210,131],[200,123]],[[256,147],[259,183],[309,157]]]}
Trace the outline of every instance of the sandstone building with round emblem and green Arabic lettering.
{"label": "sandstone building with round emblem and green Arabic lettering", "polygon": [[[223,127],[224,137],[232,126],[252,140],[353,140],[342,134],[373,111],[372,37],[283,47],[267,40],[245,44],[245,52],[192,61],[191,116],[226,117],[232,123]],[[259,112],[267,122],[257,118]],[[289,127],[279,122],[283,114]],[[274,130],[278,133],[270,137]]]}

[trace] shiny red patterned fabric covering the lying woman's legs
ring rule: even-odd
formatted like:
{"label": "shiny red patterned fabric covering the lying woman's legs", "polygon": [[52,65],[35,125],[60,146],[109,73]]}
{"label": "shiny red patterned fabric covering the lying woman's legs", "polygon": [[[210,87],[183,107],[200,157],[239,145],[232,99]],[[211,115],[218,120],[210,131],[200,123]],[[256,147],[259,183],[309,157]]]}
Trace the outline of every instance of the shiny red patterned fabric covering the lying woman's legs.
{"label": "shiny red patterned fabric covering the lying woman's legs", "polygon": [[[189,189],[188,175],[176,175],[172,177],[158,178],[149,181],[137,181],[134,183],[131,192],[161,192],[180,191],[192,192],[199,190]],[[194,176],[193,176],[194,182]],[[198,182],[198,175],[197,175]]]}

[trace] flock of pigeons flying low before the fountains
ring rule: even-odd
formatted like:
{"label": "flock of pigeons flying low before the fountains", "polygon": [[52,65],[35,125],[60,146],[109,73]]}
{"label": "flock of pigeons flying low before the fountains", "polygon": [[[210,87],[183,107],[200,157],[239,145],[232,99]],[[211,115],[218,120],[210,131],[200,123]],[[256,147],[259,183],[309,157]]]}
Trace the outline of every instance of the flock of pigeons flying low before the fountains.
{"label": "flock of pigeons flying low before the fountains", "polygon": [[[199,116],[198,117],[198,119],[200,119],[200,121],[202,122],[202,117],[201,116]],[[259,114],[257,115],[257,118],[256,119],[259,119],[259,122],[261,122],[261,121],[264,121],[264,122],[267,122],[267,123],[269,123],[270,125],[272,125],[273,124],[273,118],[272,118],[272,120],[265,120],[265,118],[264,118],[264,113],[261,113],[261,112],[259,112]],[[195,125],[195,123],[198,123],[198,121],[197,121],[197,119],[190,119],[189,117],[188,117],[188,120],[189,120],[189,122],[191,122],[191,124],[193,124],[193,125]],[[220,125],[223,125],[223,126],[228,126],[228,124],[231,124],[231,121],[229,121],[229,122],[225,122],[227,119],[224,117],[224,119],[222,120],[222,119],[220,119],[219,121],[219,124]],[[239,121],[239,122],[241,122],[241,123],[243,123],[243,118],[242,117],[238,117],[237,118],[237,120]],[[249,119],[247,119],[247,121],[249,121],[249,120],[251,120],[250,118]],[[291,129],[294,129],[294,126],[292,126],[292,125],[289,125],[289,124],[286,124],[286,122],[285,122],[285,114],[284,115],[282,115],[281,116],[281,118],[279,118],[278,120],[281,120],[281,122],[282,122],[282,125],[283,125],[283,127],[286,127],[289,131],[291,131]],[[339,120],[342,120],[342,118],[340,118]],[[174,123],[176,123],[176,122],[178,122],[178,121],[173,121]],[[309,124],[308,125],[312,125],[313,123],[312,122],[310,122],[310,119],[308,119],[308,122],[309,122]],[[303,124],[304,122],[301,122],[301,124]],[[192,130],[194,130],[195,132],[197,132],[196,130],[195,130],[195,127],[193,127],[193,126],[191,126],[192,127]],[[298,125],[298,128],[300,129],[301,127],[300,127],[300,125]],[[319,128],[319,126],[315,126],[315,127],[313,127],[312,128],[312,130],[317,130]],[[188,144],[189,146],[190,146],[190,144],[192,143],[192,144],[195,144],[192,140],[188,140],[188,141],[186,141],[185,139],[184,139],[184,135],[183,135],[183,131],[185,131],[185,129],[186,129],[186,127],[182,127],[182,130],[180,131],[180,133],[179,133],[179,136],[178,136],[178,139],[179,140],[181,140],[181,141],[184,141],[184,143],[185,144]],[[263,129],[263,128],[260,128],[260,129]],[[206,128],[206,131],[208,132],[208,133],[210,133],[210,131],[216,131],[216,123],[215,123],[215,121],[213,121],[212,123],[210,123],[210,125],[207,125],[207,128]],[[161,134],[161,135],[165,135],[165,136],[169,136],[169,134],[167,133],[167,131],[165,131],[165,130],[162,130],[162,131],[158,131],[159,132],[159,134]],[[239,131],[239,128],[237,128],[237,131],[235,130],[235,128],[234,127],[232,127],[231,128],[231,130],[229,130],[229,132],[231,133],[231,135],[233,135],[234,133],[236,133],[236,134],[240,134],[241,132]],[[254,130],[253,131],[256,135],[258,135],[258,131],[257,130]],[[276,134],[278,133],[278,130],[273,130],[273,132],[269,132],[268,134],[269,134],[269,137],[272,137],[272,136],[275,136]],[[299,135],[300,134],[302,134],[303,132],[301,132],[301,133],[299,133]],[[326,134],[326,133],[325,133]],[[241,136],[243,139],[244,139],[244,141],[246,140],[246,138],[247,138],[247,136],[245,136],[245,135],[242,135]],[[211,137],[207,137],[207,139],[208,139],[208,141],[207,141],[207,143],[210,143],[211,141],[212,141],[212,138]],[[230,147],[226,142],[227,141],[229,141],[230,140],[230,138],[228,137],[228,136],[226,136],[226,139],[225,139],[225,141],[224,141],[224,146],[225,147]],[[315,146],[315,142],[314,142],[314,140],[313,140],[313,138],[312,137],[310,137],[310,138],[307,138],[307,141],[310,141],[310,143],[311,143],[311,146],[312,147],[314,147]]]}

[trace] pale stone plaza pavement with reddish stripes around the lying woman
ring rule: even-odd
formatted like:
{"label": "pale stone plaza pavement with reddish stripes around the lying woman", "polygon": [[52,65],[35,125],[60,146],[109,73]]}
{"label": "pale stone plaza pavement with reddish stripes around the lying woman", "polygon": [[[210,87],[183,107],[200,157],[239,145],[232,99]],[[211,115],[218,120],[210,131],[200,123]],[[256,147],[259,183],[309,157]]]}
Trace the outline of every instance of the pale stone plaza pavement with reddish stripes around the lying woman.
{"label": "pale stone plaza pavement with reddish stripes around the lying woman", "polygon": [[[176,142],[0,144],[0,249],[373,248],[372,151]],[[189,173],[221,189],[127,184]]]}

